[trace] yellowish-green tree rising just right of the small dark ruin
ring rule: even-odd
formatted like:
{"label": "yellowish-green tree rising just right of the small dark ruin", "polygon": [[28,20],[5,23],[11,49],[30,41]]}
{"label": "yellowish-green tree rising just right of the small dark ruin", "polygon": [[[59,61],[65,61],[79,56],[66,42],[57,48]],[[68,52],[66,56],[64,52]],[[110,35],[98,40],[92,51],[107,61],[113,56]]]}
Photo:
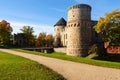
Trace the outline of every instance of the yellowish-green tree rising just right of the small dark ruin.
{"label": "yellowish-green tree rising just right of the small dark ruin", "polygon": [[24,26],[20,30],[26,35],[27,41],[28,41],[28,46],[34,46],[35,45],[35,36],[33,35],[33,33],[34,33],[33,27]]}

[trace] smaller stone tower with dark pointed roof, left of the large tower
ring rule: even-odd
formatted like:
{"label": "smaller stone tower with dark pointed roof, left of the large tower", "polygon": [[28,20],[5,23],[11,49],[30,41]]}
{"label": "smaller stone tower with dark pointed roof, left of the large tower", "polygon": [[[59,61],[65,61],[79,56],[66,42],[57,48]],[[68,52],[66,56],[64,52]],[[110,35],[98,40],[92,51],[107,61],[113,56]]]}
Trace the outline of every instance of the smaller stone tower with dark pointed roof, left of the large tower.
{"label": "smaller stone tower with dark pointed roof, left of the large tower", "polygon": [[55,25],[54,25],[54,31],[55,31],[55,35],[54,35],[54,46],[55,47],[61,47],[63,46],[63,39],[62,39],[62,35],[63,35],[63,31],[64,28],[66,27],[66,21],[64,20],[64,18],[61,18]]}

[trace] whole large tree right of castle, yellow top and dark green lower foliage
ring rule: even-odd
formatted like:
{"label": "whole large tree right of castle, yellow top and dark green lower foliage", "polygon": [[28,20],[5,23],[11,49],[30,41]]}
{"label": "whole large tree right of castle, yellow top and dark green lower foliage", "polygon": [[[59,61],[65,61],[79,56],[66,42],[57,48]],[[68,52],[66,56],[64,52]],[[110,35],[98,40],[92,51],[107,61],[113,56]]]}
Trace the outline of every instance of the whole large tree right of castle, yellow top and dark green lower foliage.
{"label": "whole large tree right of castle, yellow top and dark green lower foliage", "polygon": [[97,33],[102,33],[102,39],[110,44],[120,44],[120,10],[106,13],[94,26]]}

